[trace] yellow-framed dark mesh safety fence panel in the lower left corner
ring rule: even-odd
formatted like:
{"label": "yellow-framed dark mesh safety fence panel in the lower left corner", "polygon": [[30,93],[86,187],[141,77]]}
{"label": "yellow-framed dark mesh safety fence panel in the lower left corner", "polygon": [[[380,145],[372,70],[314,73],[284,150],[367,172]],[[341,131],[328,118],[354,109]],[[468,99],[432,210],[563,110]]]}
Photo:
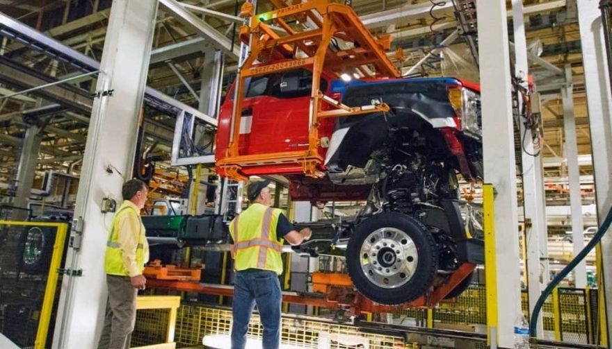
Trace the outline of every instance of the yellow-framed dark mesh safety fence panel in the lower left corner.
{"label": "yellow-framed dark mesh safety fence panel in the lower left corner", "polygon": [[50,348],[67,223],[0,221],[0,333]]}

